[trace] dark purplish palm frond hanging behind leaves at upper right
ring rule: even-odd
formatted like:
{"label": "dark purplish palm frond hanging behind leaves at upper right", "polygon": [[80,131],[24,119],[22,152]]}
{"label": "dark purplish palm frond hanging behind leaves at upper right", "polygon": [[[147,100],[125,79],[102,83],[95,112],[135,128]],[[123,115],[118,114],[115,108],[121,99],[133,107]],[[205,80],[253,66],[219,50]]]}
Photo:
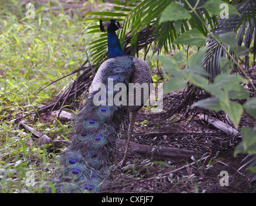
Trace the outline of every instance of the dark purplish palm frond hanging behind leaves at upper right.
{"label": "dark purplish palm frond hanging behind leaves at upper right", "polygon": [[[256,4],[253,1],[243,1],[239,5],[235,5],[237,10],[240,13],[239,15],[231,15],[228,19],[219,19],[217,24],[213,26],[211,30],[214,35],[220,35],[222,33],[227,32],[236,32],[237,33],[237,44],[244,46],[246,48],[250,48],[253,42],[253,33],[255,33],[255,11],[256,11]],[[202,65],[205,66],[206,71],[209,73],[210,81],[213,82],[215,77],[221,73],[220,71],[220,57],[226,57],[227,54],[215,41],[213,38],[208,36],[208,52],[206,53],[206,57],[202,62]],[[255,39],[255,34],[254,34]],[[253,42],[253,47],[255,47],[256,42]],[[225,46],[228,48],[228,46]],[[231,49],[229,48],[229,53],[232,53]],[[255,50],[253,50],[253,62],[255,62]],[[249,57],[248,55],[244,58],[244,63],[246,67],[249,66]]]}

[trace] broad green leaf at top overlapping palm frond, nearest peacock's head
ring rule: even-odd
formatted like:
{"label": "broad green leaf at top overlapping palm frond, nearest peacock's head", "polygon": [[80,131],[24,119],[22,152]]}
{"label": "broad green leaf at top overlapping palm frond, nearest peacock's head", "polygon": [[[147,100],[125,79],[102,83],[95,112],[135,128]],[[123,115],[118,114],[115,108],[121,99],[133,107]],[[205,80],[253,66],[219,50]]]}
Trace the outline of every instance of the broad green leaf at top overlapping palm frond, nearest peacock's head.
{"label": "broad green leaf at top overlapping palm frond, nearest peacock's head", "polygon": [[182,5],[176,2],[173,2],[165,8],[160,17],[159,23],[163,23],[165,21],[177,21],[190,18],[191,15],[189,14],[186,8],[184,8]]}

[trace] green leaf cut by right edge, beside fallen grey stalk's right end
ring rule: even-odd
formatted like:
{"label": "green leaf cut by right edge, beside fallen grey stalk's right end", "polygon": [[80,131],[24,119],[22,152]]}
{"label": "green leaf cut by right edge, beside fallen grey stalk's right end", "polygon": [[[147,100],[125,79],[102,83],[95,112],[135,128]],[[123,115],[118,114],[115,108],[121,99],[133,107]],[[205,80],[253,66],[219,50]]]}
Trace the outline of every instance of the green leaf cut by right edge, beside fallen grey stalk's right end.
{"label": "green leaf cut by right edge, beside fallen grey stalk's right end", "polygon": [[248,149],[253,144],[256,144],[256,129],[253,127],[241,128],[242,142],[244,144],[244,150]]}

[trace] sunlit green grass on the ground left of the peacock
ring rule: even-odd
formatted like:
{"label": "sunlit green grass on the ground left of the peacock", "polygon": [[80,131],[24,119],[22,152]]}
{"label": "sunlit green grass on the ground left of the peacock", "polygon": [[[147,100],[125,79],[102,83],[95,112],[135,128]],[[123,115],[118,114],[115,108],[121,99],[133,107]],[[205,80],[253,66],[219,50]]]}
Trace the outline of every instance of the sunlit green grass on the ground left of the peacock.
{"label": "sunlit green grass on the ground left of the peacock", "polygon": [[[71,17],[63,9],[43,10],[52,5],[35,5],[36,18],[27,19],[25,5],[0,0],[0,192],[42,192],[44,182],[56,171],[50,147],[36,147],[31,134],[14,121],[58,95],[75,77],[37,92],[85,61],[84,48],[91,37],[80,41],[81,17]],[[58,120],[27,120],[42,135],[58,138],[70,133],[70,127]]]}

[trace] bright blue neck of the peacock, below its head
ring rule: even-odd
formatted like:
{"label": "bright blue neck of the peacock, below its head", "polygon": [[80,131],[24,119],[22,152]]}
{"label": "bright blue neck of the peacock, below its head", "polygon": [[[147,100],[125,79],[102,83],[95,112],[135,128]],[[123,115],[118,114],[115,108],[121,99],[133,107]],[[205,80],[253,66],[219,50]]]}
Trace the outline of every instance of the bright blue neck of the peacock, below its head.
{"label": "bright blue neck of the peacock, below its head", "polygon": [[115,32],[107,31],[107,45],[109,46],[109,59],[124,55],[120,41]]}

